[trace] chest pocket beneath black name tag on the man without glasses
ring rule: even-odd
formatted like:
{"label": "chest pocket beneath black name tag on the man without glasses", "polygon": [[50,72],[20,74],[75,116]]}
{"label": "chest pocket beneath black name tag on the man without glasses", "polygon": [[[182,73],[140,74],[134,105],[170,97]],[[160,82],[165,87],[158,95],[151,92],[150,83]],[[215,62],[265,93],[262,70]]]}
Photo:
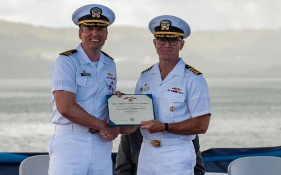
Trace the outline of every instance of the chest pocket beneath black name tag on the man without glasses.
{"label": "chest pocket beneath black name tag on the man without glasses", "polygon": [[94,85],[94,80],[88,77],[76,77],[77,91],[76,101],[85,100],[87,93],[90,93],[90,88]]}

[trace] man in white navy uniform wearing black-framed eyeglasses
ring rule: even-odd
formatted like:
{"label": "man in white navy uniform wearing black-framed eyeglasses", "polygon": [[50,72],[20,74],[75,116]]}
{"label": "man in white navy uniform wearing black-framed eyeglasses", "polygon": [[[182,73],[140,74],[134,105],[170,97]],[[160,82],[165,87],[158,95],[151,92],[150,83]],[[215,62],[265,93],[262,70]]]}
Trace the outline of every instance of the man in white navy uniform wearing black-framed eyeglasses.
{"label": "man in white navy uniform wearing black-framed eyeglasses", "polygon": [[192,140],[207,131],[211,115],[208,85],[202,73],[179,57],[191,33],[184,20],[156,17],[149,29],[159,62],[142,72],[135,94],[153,95],[156,120],[142,122],[137,174],[192,175]]}

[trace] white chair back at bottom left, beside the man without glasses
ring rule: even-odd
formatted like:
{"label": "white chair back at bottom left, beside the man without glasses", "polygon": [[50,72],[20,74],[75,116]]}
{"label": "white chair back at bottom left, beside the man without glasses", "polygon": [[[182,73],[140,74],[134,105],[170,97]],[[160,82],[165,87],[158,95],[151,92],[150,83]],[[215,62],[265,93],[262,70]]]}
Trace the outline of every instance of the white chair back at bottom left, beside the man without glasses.
{"label": "white chair back at bottom left, beside the man without glasses", "polygon": [[49,155],[30,156],[20,164],[20,175],[48,175]]}

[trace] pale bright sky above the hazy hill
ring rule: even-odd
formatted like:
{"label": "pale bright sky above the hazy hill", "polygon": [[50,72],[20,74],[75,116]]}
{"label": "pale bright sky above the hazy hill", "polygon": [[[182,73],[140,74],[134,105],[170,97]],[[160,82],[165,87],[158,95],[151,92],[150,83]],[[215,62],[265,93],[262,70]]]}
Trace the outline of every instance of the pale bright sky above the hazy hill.
{"label": "pale bright sky above the hazy hill", "polygon": [[1,0],[0,20],[52,28],[75,27],[72,13],[87,4],[101,4],[113,10],[113,26],[147,28],[157,16],[174,15],[200,31],[281,28],[280,0]]}

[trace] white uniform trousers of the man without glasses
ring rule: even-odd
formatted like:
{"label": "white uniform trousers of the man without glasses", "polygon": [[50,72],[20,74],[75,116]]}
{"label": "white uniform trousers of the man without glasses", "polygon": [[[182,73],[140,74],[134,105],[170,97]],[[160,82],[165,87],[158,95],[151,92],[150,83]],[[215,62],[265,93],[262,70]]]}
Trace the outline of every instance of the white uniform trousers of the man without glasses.
{"label": "white uniform trousers of the man without glasses", "polygon": [[112,142],[88,128],[56,125],[49,142],[49,175],[112,175],[111,151]]}

